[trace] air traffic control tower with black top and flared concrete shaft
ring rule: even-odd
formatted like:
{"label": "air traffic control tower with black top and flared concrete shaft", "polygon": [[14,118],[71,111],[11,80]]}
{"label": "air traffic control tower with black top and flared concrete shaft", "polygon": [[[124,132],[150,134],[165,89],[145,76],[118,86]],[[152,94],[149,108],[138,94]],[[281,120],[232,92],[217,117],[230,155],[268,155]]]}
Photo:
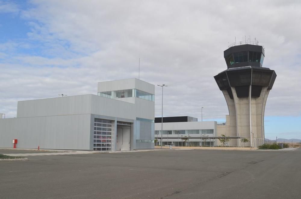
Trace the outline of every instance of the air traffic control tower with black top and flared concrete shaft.
{"label": "air traffic control tower with black top and flared concrete shaft", "polygon": [[[245,146],[257,147],[264,142],[265,103],[277,75],[262,67],[264,48],[258,42],[234,43],[224,57],[228,69],[214,76],[229,109],[225,132],[219,134],[247,138]],[[230,145],[241,143],[231,140]]]}

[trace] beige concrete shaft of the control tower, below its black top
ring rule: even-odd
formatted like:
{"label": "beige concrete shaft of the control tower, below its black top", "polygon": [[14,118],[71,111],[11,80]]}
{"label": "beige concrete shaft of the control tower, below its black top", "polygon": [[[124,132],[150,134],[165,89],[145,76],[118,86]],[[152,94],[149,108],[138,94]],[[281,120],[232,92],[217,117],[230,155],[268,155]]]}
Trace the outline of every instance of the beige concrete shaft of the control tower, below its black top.
{"label": "beige concrete shaft of the control tower, below its black top", "polygon": [[[250,146],[252,140],[253,146],[257,147],[264,140],[264,111],[269,90],[262,87],[259,97],[237,97],[235,88],[231,87],[231,90],[234,99],[223,90],[230,115],[226,115],[226,126],[218,126],[218,135],[242,136],[249,140],[245,146]],[[231,139],[229,145],[240,146],[242,143],[239,139]]]}

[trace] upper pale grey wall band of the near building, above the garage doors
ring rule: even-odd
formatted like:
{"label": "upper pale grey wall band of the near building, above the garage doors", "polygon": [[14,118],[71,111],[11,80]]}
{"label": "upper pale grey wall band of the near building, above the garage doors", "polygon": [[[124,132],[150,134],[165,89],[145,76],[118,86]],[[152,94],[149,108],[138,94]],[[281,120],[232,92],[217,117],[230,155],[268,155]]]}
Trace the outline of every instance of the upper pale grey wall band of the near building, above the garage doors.
{"label": "upper pale grey wall band of the near building, above the garage doors", "polygon": [[96,114],[135,120],[154,120],[154,102],[135,98],[135,104],[97,95],[78,95],[18,102],[17,118]]}

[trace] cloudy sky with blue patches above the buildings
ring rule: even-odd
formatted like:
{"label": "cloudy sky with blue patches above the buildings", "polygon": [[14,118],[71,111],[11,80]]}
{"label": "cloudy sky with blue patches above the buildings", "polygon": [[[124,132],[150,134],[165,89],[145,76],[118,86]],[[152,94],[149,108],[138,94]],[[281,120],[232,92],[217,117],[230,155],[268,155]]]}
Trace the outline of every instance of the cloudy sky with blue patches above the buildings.
{"label": "cloudy sky with blue patches above the buildings", "polygon": [[[225,121],[213,76],[228,45],[257,38],[277,78],[265,109],[266,138],[301,139],[301,2],[1,1],[0,112],[17,101],[97,94],[97,82],[138,78],[164,88],[164,116]],[[155,115],[161,116],[156,86]]]}

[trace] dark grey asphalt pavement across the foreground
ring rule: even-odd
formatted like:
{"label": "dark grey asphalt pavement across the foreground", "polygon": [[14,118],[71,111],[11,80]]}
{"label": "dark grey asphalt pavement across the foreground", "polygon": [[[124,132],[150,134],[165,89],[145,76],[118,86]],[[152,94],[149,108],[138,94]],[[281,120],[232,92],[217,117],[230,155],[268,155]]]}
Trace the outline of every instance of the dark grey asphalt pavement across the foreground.
{"label": "dark grey asphalt pavement across the foreground", "polygon": [[299,199],[301,195],[301,149],[28,158],[0,162],[0,198]]}

